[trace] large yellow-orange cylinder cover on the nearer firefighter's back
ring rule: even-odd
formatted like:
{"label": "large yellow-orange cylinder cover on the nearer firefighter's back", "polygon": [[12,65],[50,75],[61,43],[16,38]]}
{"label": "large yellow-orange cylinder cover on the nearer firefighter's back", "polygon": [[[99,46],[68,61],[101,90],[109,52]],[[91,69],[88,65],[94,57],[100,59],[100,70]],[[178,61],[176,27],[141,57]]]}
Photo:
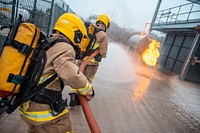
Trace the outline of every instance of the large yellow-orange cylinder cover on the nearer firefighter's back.
{"label": "large yellow-orange cylinder cover on the nearer firefighter's back", "polygon": [[[13,27],[14,28],[14,27]],[[0,97],[19,92],[25,80],[32,53],[40,39],[40,29],[31,23],[20,23],[16,35],[12,29],[0,57]]]}

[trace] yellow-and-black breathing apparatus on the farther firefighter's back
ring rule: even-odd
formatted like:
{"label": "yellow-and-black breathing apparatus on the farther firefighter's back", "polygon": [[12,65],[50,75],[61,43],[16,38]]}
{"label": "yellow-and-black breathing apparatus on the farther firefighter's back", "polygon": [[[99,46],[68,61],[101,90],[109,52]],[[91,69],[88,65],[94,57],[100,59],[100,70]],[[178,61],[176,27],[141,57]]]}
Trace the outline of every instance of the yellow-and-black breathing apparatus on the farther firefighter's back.
{"label": "yellow-and-black breathing apparatus on the farther firefighter's back", "polygon": [[[81,44],[81,52],[83,53],[82,59],[86,56],[91,55],[95,52],[94,45],[96,43],[95,34],[99,31],[103,31],[102,29],[97,28],[94,24],[90,22],[85,22],[85,27],[87,29],[88,38],[84,38]],[[101,55],[98,54],[94,57],[97,61],[101,60]]]}

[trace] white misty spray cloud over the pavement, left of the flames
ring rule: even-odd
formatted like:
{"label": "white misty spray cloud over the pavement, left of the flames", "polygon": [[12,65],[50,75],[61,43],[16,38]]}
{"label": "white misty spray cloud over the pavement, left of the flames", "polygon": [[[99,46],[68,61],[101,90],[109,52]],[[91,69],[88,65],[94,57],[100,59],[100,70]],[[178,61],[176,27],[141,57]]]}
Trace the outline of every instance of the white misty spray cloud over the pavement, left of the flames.
{"label": "white misty spray cloud over the pavement, left of the flames", "polygon": [[112,82],[132,82],[137,66],[132,60],[120,45],[109,43],[107,58],[100,63],[96,76]]}

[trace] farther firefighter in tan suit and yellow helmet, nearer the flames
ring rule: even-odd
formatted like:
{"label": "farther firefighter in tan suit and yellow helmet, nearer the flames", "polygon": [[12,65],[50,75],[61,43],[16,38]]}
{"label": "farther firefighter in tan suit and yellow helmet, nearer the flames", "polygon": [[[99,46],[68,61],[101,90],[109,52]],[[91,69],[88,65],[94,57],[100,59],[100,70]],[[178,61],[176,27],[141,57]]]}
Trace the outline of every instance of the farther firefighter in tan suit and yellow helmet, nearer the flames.
{"label": "farther firefighter in tan suit and yellow helmet, nearer the flames", "polygon": [[[94,45],[91,45],[91,47],[93,49],[92,51],[98,49],[100,53],[96,57],[90,60],[84,71],[84,74],[86,75],[90,83],[94,79],[94,76],[98,70],[101,59],[106,58],[107,47],[108,47],[108,37],[106,31],[109,28],[109,26],[110,26],[110,18],[106,14],[99,15],[96,20],[97,29],[95,30],[94,34],[95,35],[95,40],[93,41]],[[92,53],[90,53],[89,55],[91,54]],[[89,55],[84,57],[83,60],[80,61],[80,64],[84,60],[86,60]],[[70,95],[69,106],[80,105],[78,95],[75,89],[71,88],[69,95]]]}

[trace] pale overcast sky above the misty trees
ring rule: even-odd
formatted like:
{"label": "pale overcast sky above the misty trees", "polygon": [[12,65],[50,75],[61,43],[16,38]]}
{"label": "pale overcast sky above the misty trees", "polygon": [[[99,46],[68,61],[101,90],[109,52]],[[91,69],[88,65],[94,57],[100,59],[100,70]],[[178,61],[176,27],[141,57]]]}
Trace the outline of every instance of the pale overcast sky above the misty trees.
{"label": "pale overcast sky above the misty trees", "polygon": [[[121,27],[141,31],[151,21],[158,0],[65,0],[84,19],[106,13]],[[162,0],[161,8],[188,3],[186,0]]]}

